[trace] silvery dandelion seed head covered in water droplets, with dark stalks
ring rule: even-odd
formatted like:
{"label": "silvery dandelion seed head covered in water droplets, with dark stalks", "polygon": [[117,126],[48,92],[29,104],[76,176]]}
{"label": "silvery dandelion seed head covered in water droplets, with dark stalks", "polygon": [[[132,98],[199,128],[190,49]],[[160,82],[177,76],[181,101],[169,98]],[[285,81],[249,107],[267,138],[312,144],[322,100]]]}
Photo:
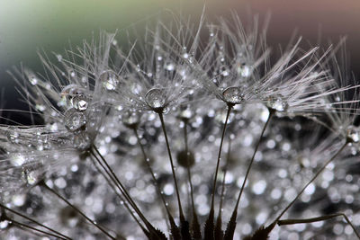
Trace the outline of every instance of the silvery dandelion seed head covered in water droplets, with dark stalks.
{"label": "silvery dandelion seed head covered in water droplets, with dark stalks", "polygon": [[0,125],[0,238],[360,238],[344,40],[270,47],[266,23],[230,19],[101,32],[10,71],[32,124]]}

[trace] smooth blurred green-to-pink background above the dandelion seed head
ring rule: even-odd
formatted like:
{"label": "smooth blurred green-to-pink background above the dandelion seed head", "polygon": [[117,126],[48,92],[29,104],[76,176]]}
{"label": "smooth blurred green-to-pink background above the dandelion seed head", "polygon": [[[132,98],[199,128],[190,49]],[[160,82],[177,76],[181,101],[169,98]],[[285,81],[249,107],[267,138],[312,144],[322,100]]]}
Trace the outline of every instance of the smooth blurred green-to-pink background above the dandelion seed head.
{"label": "smooth blurred green-to-pink background above the dandelion seed head", "polygon": [[[130,29],[169,13],[216,21],[235,11],[246,20],[253,13],[264,19],[271,13],[268,43],[285,45],[295,30],[303,40],[316,45],[338,42],[347,36],[351,67],[360,76],[360,1],[358,0],[1,0],[0,1],[0,87],[2,108],[24,108],[18,101],[14,80],[6,70],[14,66],[41,72],[37,51],[63,53],[64,49],[90,40],[93,32]],[[3,116],[7,113],[3,112]]]}

